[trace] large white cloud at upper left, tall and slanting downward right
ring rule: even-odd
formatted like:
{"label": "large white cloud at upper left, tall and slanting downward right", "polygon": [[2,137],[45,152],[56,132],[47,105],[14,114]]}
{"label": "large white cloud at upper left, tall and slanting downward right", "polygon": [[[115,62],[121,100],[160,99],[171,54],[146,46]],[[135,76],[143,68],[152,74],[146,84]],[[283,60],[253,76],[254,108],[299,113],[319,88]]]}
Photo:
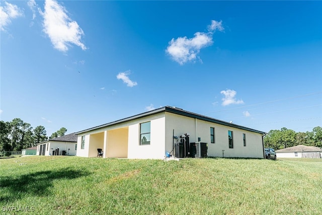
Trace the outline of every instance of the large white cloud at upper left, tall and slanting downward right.
{"label": "large white cloud at upper left, tall and slanting downward right", "polygon": [[86,50],[81,42],[83,30],[75,21],[72,21],[66,13],[67,10],[53,0],[46,0],[45,11],[39,13],[44,18],[43,31],[48,35],[54,48],[66,52],[70,44]]}

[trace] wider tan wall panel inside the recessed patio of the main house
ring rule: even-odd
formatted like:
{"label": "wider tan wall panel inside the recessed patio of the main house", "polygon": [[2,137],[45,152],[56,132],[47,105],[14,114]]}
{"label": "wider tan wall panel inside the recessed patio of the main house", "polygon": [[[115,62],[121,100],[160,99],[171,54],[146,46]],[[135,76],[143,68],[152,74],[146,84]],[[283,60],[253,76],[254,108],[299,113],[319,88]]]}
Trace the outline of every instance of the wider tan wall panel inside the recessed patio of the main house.
{"label": "wider tan wall panel inside the recessed patio of the main house", "polygon": [[128,127],[108,131],[107,157],[127,158]]}

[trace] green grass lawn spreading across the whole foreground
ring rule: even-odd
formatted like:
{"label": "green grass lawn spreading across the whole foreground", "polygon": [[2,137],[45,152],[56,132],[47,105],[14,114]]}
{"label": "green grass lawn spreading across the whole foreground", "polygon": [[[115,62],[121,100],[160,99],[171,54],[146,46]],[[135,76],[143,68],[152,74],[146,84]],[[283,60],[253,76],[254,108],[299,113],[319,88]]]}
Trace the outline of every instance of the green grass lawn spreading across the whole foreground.
{"label": "green grass lawn spreading across the whole foreground", "polygon": [[322,214],[322,159],[0,159],[9,214]]}

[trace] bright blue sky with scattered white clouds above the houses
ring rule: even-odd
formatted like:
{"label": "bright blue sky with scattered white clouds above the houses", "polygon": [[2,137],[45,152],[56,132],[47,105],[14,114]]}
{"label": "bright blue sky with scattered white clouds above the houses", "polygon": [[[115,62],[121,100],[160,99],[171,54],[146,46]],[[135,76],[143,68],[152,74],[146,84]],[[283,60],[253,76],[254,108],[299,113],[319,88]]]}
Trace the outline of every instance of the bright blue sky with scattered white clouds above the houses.
{"label": "bright blue sky with scattered white clouds above the houses", "polygon": [[322,2],[1,1],[1,120],[51,135],[160,106],[322,126]]}

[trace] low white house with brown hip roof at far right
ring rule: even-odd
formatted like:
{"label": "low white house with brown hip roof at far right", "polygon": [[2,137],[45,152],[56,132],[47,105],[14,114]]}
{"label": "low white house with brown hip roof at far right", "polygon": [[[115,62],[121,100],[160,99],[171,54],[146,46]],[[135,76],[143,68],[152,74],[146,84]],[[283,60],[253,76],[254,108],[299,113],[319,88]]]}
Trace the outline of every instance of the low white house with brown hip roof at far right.
{"label": "low white house with brown hip roof at far right", "polygon": [[277,158],[322,158],[322,149],[315,146],[293,146],[276,150]]}

